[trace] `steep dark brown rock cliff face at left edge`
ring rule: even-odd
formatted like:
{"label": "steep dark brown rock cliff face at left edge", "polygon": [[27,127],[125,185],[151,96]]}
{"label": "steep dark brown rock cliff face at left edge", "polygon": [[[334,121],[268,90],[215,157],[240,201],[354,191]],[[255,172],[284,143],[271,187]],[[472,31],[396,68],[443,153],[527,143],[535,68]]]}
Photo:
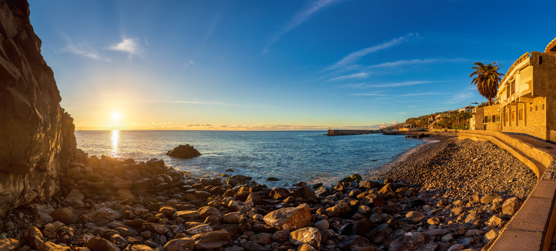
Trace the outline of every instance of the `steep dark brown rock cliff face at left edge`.
{"label": "steep dark brown rock cliff face at left edge", "polygon": [[27,1],[0,0],[0,214],[59,191],[76,142]]}

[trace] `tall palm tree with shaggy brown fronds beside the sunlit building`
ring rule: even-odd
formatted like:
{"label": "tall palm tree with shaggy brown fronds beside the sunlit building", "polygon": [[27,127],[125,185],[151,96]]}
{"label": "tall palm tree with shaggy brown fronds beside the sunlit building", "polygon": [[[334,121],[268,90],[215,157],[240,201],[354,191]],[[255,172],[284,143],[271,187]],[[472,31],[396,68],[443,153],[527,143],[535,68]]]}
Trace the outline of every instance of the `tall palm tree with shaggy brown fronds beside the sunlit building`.
{"label": "tall palm tree with shaggy brown fronds beside the sunlit building", "polygon": [[500,77],[504,75],[498,72],[502,65],[496,65],[496,62],[490,64],[475,62],[473,64],[475,66],[471,67],[471,69],[475,69],[475,71],[469,75],[469,78],[476,77],[471,80],[471,85],[477,85],[479,94],[488,100],[489,105],[492,105],[492,99],[494,99],[498,91],[498,83],[502,80]]}

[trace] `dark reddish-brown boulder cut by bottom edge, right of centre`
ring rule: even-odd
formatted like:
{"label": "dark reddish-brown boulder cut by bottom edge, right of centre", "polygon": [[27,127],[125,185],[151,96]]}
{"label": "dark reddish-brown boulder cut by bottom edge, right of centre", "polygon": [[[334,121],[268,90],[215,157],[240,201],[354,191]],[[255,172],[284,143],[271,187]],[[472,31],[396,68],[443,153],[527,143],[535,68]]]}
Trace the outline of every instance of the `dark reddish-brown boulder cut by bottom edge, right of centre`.
{"label": "dark reddish-brown boulder cut by bottom edge, right of centre", "polygon": [[390,244],[389,251],[434,251],[438,244],[434,242],[434,235],[419,232],[409,232],[401,235]]}

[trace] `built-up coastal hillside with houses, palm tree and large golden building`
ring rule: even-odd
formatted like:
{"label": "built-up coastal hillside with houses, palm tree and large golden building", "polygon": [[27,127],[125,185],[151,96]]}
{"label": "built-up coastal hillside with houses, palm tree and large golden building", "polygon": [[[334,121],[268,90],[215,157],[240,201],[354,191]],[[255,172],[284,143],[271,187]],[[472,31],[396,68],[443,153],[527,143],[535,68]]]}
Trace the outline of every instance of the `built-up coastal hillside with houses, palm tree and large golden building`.
{"label": "built-up coastal hillside with houses, palm tree and large golden building", "polygon": [[556,142],[556,38],[544,52],[525,52],[505,74],[496,62],[474,65],[471,84],[487,101],[411,117],[381,130],[486,130]]}

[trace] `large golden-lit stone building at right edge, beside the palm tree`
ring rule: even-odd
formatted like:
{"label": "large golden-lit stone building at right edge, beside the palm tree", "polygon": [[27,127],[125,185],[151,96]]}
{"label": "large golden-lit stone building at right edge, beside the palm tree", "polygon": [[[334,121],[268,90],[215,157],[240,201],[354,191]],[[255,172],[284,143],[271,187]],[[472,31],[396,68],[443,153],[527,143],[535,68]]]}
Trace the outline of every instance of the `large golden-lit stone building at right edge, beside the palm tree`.
{"label": "large golden-lit stone building at right edge, beside the palm tree", "polygon": [[556,142],[556,38],[525,53],[498,86],[499,104],[475,109],[472,130],[495,130]]}

